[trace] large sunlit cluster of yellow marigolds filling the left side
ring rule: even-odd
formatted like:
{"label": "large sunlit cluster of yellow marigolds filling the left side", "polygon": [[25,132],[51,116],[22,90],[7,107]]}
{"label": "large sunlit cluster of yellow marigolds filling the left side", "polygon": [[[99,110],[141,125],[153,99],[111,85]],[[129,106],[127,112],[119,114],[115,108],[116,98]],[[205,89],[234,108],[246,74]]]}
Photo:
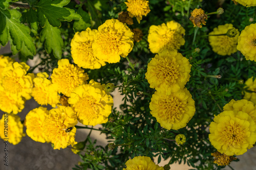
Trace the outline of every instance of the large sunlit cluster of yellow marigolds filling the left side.
{"label": "large sunlit cluster of yellow marigolds filling the left side", "polygon": [[[23,134],[23,125],[17,115],[22,111],[26,100],[33,96],[40,105],[56,107],[50,111],[39,107],[31,110],[25,118],[26,133],[38,142],[52,142],[54,149],[74,145],[74,127],[77,119],[83,125],[97,125],[108,121],[112,111],[113,99],[104,89],[104,84],[89,79],[84,70],[70,64],[68,59],[58,61],[49,80],[46,72],[39,72],[36,77],[28,74],[29,66],[14,62],[9,57],[1,56],[1,95],[0,108],[9,113],[9,142],[17,144]],[[5,64],[4,64],[5,63]],[[60,98],[59,94],[63,94]],[[61,100],[60,100],[61,99]],[[66,101],[66,102],[65,102]],[[65,104],[65,105],[64,105]],[[4,117],[0,124],[4,124]],[[18,130],[17,130],[18,129]],[[1,132],[1,138],[4,133]]]}

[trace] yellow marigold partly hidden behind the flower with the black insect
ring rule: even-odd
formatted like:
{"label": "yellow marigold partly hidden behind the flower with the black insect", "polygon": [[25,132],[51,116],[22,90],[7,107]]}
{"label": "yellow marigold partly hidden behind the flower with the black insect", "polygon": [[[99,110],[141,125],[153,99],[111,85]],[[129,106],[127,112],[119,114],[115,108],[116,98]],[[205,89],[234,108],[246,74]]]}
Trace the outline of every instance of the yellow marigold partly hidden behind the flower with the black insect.
{"label": "yellow marigold partly hidden behind the flower with the black insect", "polygon": [[45,134],[43,133],[44,127],[42,126],[48,115],[49,111],[45,107],[35,108],[26,115],[26,133],[34,141],[42,143],[48,141]]}

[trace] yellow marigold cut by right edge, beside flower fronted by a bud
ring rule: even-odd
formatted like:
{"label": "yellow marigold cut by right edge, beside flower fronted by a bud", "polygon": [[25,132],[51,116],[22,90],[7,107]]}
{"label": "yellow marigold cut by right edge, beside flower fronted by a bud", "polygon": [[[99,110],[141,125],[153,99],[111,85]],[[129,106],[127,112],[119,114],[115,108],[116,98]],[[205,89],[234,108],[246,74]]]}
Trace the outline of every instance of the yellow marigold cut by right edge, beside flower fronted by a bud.
{"label": "yellow marigold cut by right edge, beside flower fronted by a bud", "polygon": [[256,23],[245,27],[241,32],[237,48],[246,60],[256,61]]}

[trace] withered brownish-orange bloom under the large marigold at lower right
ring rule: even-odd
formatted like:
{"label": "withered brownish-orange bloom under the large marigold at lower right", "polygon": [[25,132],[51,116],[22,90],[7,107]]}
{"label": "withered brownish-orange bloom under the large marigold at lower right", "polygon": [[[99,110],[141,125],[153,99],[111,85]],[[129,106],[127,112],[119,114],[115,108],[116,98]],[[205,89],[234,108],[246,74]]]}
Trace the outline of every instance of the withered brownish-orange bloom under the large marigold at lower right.
{"label": "withered brownish-orange bloom under the large marigold at lower right", "polygon": [[218,166],[225,166],[229,165],[229,163],[233,160],[236,160],[237,158],[233,156],[227,156],[226,154],[221,154],[220,152],[216,151],[215,153],[211,153],[211,156],[214,158],[214,163],[216,163]]}

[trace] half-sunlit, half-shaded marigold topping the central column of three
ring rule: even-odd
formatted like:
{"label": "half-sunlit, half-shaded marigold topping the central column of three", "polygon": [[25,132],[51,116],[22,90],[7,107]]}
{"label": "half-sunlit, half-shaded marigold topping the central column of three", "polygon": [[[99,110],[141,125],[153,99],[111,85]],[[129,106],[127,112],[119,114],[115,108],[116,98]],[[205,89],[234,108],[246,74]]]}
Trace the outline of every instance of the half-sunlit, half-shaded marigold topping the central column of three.
{"label": "half-sunlit, half-shaded marigold topping the central column of three", "polygon": [[185,29],[176,21],[162,23],[159,26],[151,26],[147,41],[152,53],[160,53],[163,50],[179,50],[185,44]]}

